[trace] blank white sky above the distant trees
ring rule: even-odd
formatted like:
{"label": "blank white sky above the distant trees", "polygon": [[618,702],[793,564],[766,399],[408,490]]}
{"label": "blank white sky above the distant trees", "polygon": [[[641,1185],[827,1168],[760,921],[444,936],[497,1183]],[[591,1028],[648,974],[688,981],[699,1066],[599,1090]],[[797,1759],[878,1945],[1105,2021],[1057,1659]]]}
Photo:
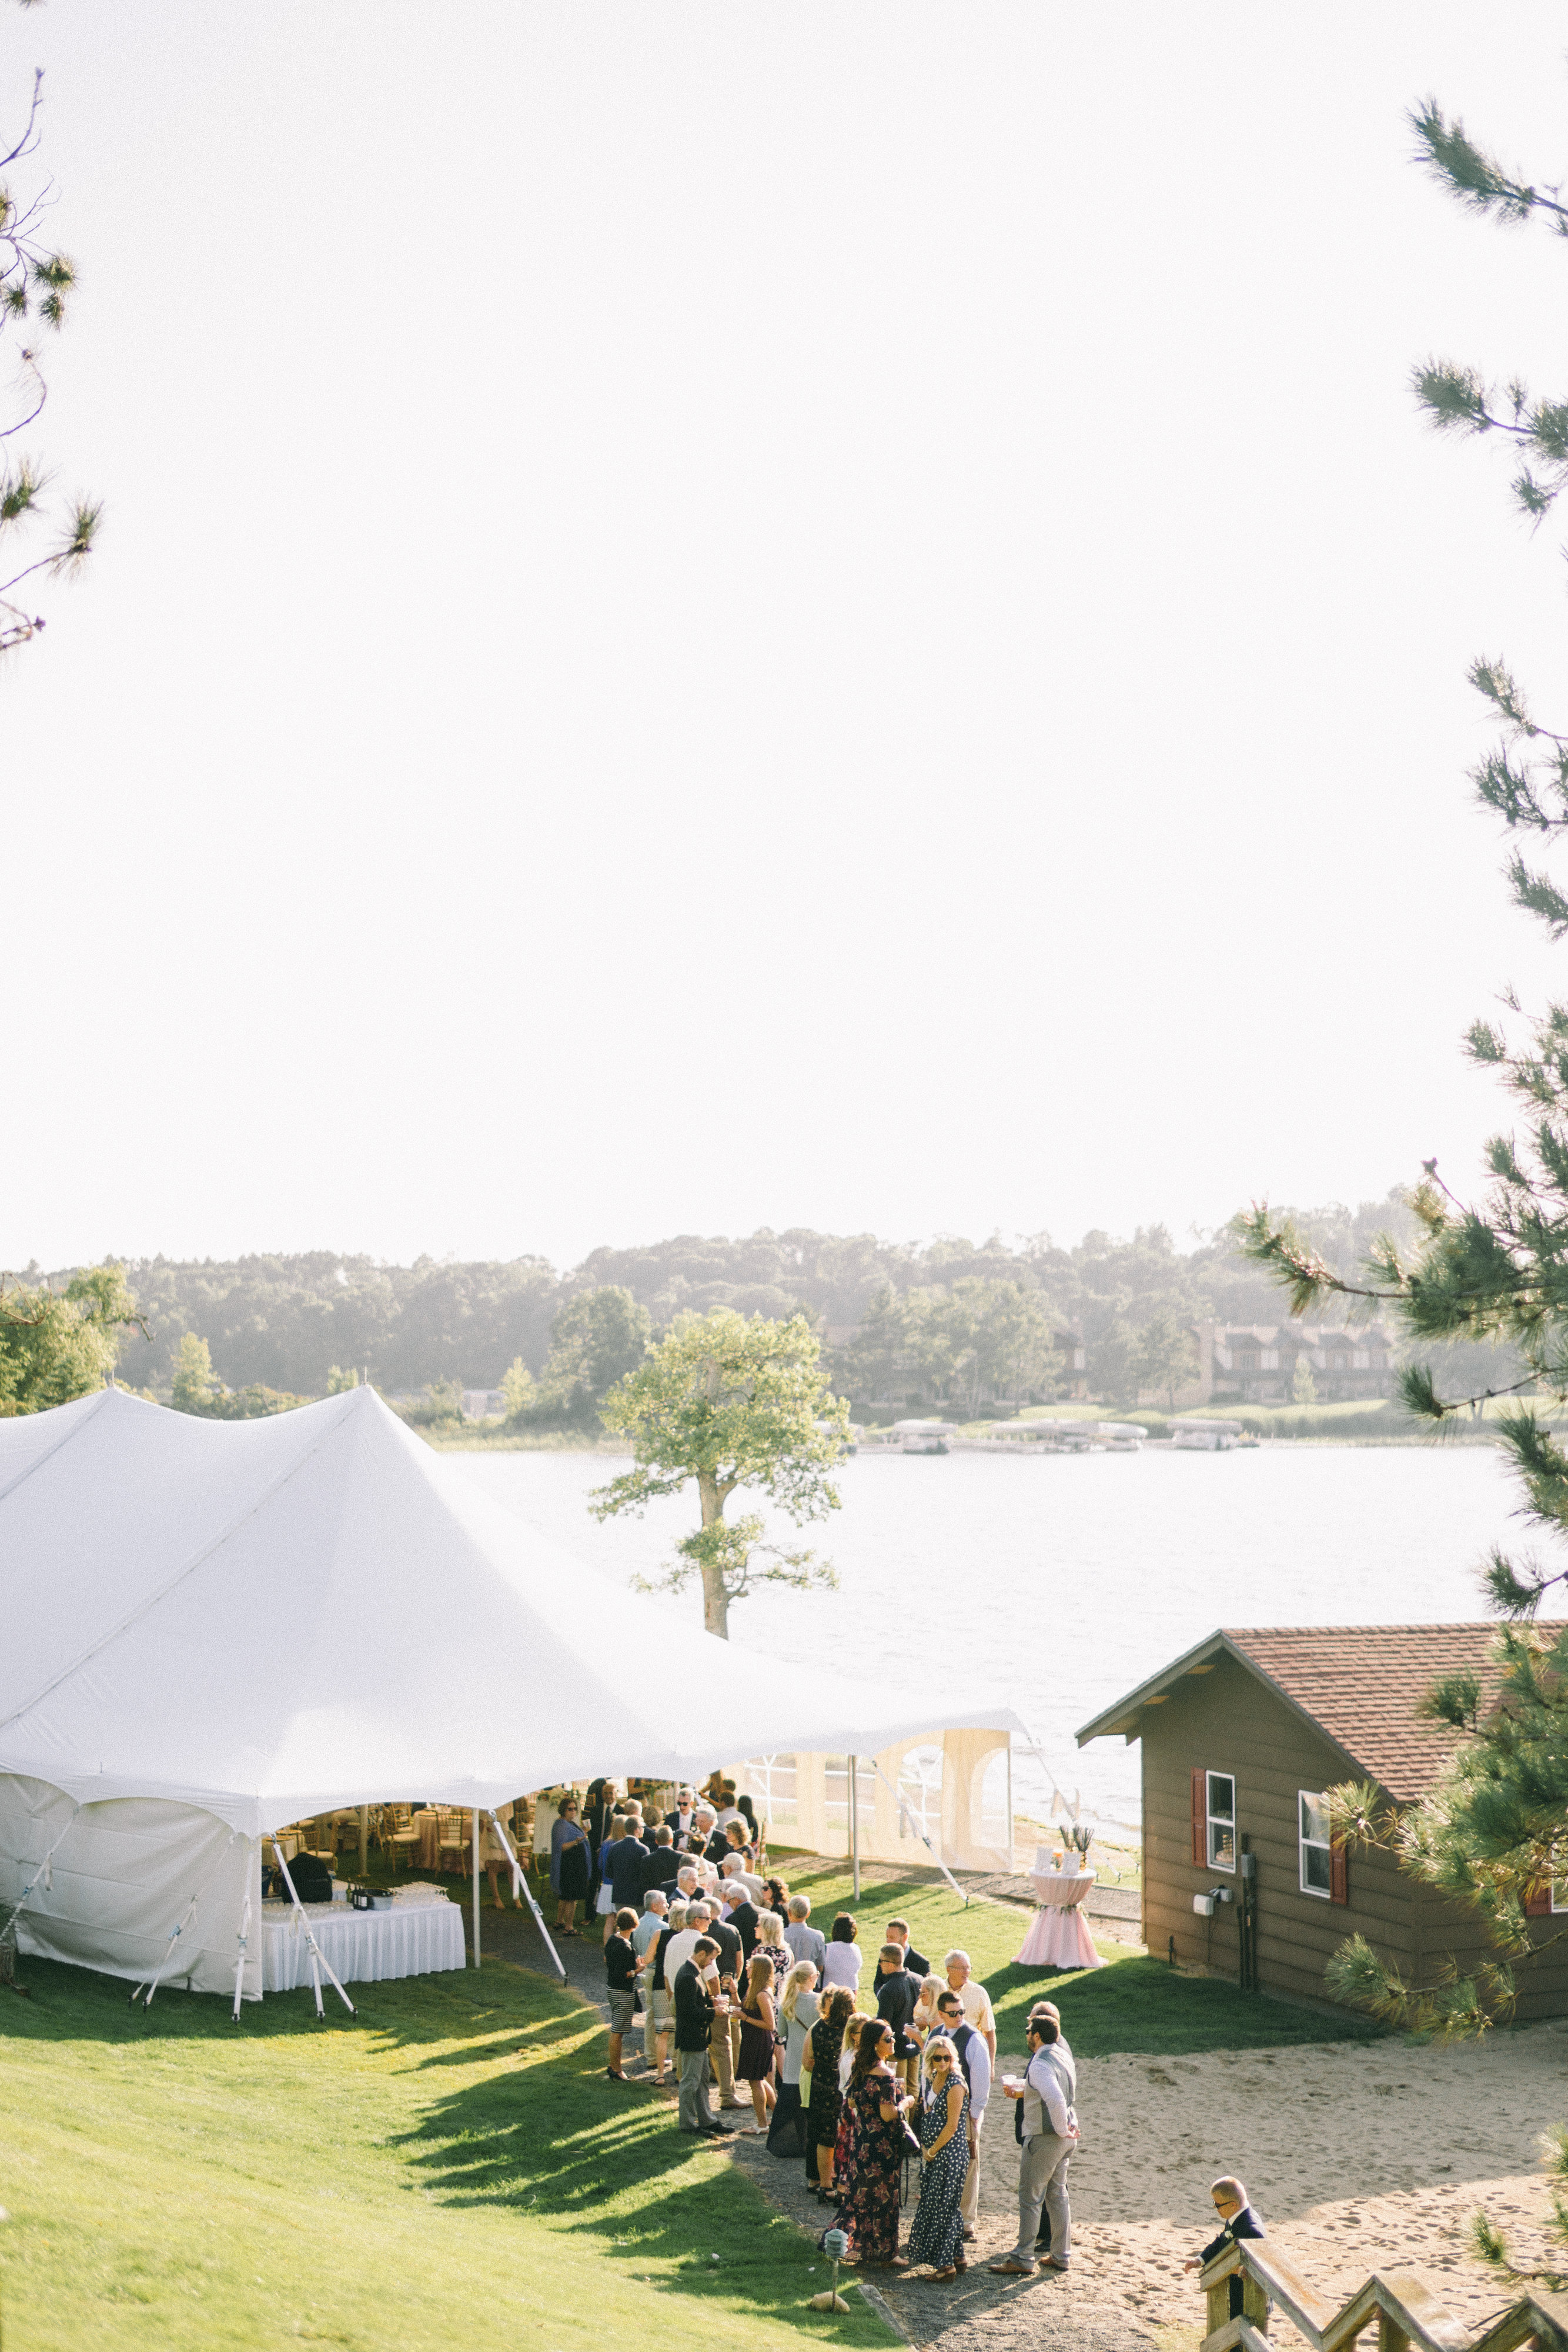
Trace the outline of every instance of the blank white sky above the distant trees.
{"label": "blank white sky above the distant trees", "polygon": [[[0,689],[0,1263],[1467,1181],[1552,957],[1465,687],[1563,562],[1563,14],[0,12],[108,501]],[[1561,960],[1559,960],[1561,962]],[[1559,981],[1561,985],[1561,981]]]}

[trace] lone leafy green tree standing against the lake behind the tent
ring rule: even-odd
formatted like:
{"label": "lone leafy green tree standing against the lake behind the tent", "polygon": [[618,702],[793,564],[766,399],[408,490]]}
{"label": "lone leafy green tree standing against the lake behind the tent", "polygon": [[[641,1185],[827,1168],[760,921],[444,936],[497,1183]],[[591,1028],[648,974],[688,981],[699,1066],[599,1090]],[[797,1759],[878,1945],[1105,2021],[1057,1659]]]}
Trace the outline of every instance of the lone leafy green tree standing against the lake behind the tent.
{"label": "lone leafy green tree standing against the lake behind the tent", "polygon": [[759,1515],[724,1517],[736,1489],[778,1503],[797,1526],[839,1508],[830,1472],[849,1446],[849,1404],[830,1392],[804,1315],[679,1315],[602,1414],[607,1430],[630,1437],[637,1468],[599,1486],[595,1517],[642,1517],[654,1496],[689,1482],[703,1508],[665,1573],[639,1578],[644,1592],[679,1592],[701,1576],[703,1625],[729,1639],[729,1604],[755,1585],[837,1585],[827,1562],[764,1543]]}

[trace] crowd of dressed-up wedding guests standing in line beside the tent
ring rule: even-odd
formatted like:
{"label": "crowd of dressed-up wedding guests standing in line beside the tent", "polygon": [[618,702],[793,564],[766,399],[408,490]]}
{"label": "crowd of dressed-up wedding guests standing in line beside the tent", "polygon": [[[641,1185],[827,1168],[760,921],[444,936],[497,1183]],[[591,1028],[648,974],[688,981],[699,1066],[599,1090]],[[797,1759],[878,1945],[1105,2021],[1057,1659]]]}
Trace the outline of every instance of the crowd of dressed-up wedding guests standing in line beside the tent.
{"label": "crowd of dressed-up wedding guests standing in line beside the tent", "polygon": [[[813,1926],[811,1900],[769,1870],[750,1804],[726,1783],[679,1790],[668,1816],[623,1799],[583,1823],[562,1804],[552,1886],[562,1936],[583,1933],[578,1905],[604,1917],[611,2082],[632,2079],[625,2044],[642,1997],[639,2079],[677,2079],[682,2131],[766,2133],[771,2154],[804,2164],[851,2263],[964,2274],[997,2082],[997,2020],[966,1952],[938,1969],[907,1922],[889,1919],[867,1966],[858,1922],[839,1912],[827,1933]],[[999,2084],[1020,2140],[1020,2227],[992,2267],[1011,2274],[1065,2270],[1072,2256],[1072,2051],[1048,2002],[1027,2032],[1025,2072]],[[900,2251],[905,2166],[919,2192]]]}

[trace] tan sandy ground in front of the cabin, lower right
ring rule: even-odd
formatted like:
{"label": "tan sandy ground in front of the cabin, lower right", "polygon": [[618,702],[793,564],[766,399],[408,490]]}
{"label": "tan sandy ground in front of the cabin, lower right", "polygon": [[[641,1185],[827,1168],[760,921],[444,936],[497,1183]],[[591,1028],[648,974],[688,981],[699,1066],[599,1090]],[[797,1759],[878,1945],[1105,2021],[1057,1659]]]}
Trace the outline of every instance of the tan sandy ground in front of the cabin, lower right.
{"label": "tan sandy ground in front of the cabin, lower right", "polygon": [[[1016,2234],[1009,2112],[992,2107],[985,2136],[976,2249],[985,2260]],[[1483,2204],[1516,2258],[1544,2253],[1540,2133],[1568,2119],[1568,2023],[1458,2049],[1378,2042],[1086,2058],[1079,2114],[1070,2277],[1009,2284],[983,2274],[976,2291],[971,2270],[957,2296],[903,2288],[898,2312],[919,2343],[947,2340],[957,2352],[959,2333],[1001,2345],[1025,2326],[1034,2340],[1053,2338],[1067,2298],[1086,2333],[1105,2328],[1105,2340],[1121,2317],[1133,2321],[1128,2345],[1150,2336],[1171,2352],[1197,2343],[1204,2307],[1180,2265],[1213,2232],[1204,2216],[1220,2171],[1246,2180],[1269,2234],[1324,2296],[1347,2298],[1368,2270],[1415,2267],[1474,2324],[1507,2293],[1467,2253],[1469,2213]],[[1276,2336],[1300,2340],[1279,2319]]]}

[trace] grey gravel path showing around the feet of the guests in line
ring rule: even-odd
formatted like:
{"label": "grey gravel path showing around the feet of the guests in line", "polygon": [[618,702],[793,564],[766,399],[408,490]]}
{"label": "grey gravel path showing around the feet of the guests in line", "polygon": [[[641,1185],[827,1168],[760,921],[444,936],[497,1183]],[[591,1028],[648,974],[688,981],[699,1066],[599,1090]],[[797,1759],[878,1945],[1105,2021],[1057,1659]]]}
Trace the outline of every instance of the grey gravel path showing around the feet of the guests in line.
{"label": "grey gravel path showing around the feet of the guests in line", "polygon": [[[470,1922],[468,1905],[463,1905],[463,1922],[465,1926]],[[480,1938],[482,1952],[498,1952],[524,1969],[550,1973],[548,1952],[527,1912],[487,1907]],[[599,1943],[590,1936],[571,1938],[559,1945],[559,1955],[574,1992],[604,2011]],[[628,2070],[639,2063],[639,2056],[642,2030],[628,2037]],[[1006,2053],[1004,2063],[1011,2063]],[[1023,2067],[1023,2058],[1016,2063]],[[672,2093],[665,2096],[675,2107]],[[1154,2333],[1124,2307],[1100,2303],[1088,2281],[1060,2272],[997,2279],[985,2267],[1009,2253],[1018,2237],[1018,2154],[1009,2117],[999,2114],[1001,2129],[992,2129],[983,2140],[980,2237],[971,2246],[969,2272],[954,2286],[926,2286],[896,2272],[877,2272],[877,2300],[884,2300],[886,2314],[905,2343],[933,2347],[933,2352],[1025,2352],[1025,2347],[1027,2352],[1150,2352],[1157,2343]],[[741,2114],[733,2122],[741,2122]],[[769,2157],[762,2136],[738,2133],[729,2143],[729,2161],[757,2183],[769,2204],[790,2213],[811,2237],[827,2225],[830,2211],[806,2192],[804,2164]],[[1194,2317],[1199,2314],[1194,2312]]]}

